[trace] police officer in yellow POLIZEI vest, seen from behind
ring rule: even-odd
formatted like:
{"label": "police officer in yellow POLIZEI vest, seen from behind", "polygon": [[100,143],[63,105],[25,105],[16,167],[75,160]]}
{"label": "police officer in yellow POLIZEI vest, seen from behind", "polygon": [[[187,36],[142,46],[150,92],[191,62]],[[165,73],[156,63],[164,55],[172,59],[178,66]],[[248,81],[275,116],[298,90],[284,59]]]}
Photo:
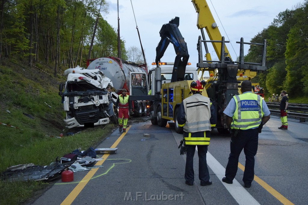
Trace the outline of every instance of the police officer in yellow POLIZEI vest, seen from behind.
{"label": "police officer in yellow POLIZEI vest, seen from behind", "polygon": [[251,187],[254,178],[254,156],[258,149],[258,134],[270,119],[270,110],[260,95],[251,92],[251,82],[241,84],[241,95],[233,96],[224,110],[231,133],[230,154],[222,181],[232,184],[237,173],[238,158],[244,148],[246,157],[243,175],[244,187]]}

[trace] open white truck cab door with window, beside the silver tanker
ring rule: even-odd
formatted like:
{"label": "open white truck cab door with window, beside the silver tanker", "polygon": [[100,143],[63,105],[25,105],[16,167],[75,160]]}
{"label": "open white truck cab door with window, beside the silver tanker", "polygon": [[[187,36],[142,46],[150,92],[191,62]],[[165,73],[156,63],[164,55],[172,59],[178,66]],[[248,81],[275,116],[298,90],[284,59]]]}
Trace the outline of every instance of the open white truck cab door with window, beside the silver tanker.
{"label": "open white truck cab door with window, beside the silver tanker", "polygon": [[143,72],[131,72],[129,75],[130,95],[148,95],[148,76]]}

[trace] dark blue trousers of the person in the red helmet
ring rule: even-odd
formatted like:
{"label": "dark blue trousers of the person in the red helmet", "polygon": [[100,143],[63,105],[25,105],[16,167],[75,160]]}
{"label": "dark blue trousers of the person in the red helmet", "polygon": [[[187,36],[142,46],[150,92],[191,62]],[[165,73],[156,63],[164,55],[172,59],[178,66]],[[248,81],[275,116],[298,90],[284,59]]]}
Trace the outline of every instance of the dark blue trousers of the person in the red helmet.
{"label": "dark blue trousers of the person in the red helmet", "polygon": [[[193,183],[195,180],[195,173],[193,170],[193,156],[195,155],[196,145],[186,146],[186,166],[185,166],[185,180]],[[208,152],[207,145],[197,145],[199,156],[199,179],[201,183],[206,183],[210,179],[209,169],[206,164],[206,153]]]}

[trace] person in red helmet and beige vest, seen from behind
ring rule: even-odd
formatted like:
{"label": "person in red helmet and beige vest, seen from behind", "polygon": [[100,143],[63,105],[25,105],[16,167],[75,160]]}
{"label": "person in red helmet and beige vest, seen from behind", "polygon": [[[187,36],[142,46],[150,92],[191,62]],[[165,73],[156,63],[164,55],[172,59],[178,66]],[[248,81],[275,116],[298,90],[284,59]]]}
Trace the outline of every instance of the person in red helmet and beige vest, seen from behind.
{"label": "person in red helmet and beige vest, seen from behind", "polygon": [[185,183],[193,185],[193,157],[196,145],[199,156],[199,179],[201,186],[211,185],[209,169],[206,164],[206,153],[210,143],[211,127],[216,126],[217,116],[214,104],[208,97],[202,96],[204,86],[201,81],[190,84],[192,96],[183,100],[180,105],[177,122],[184,131],[184,146],[186,148]]}

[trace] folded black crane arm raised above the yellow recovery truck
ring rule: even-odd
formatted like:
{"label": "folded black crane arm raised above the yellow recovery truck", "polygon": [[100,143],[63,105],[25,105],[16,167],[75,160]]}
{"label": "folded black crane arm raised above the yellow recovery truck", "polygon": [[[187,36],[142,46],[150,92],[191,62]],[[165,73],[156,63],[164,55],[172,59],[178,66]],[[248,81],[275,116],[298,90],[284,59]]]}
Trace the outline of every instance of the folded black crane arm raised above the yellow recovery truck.
{"label": "folded black crane arm raised above the yellow recovery truck", "polygon": [[180,18],[175,17],[164,24],[160,29],[160,42],[156,47],[156,66],[160,59],[164,56],[164,53],[171,42],[174,46],[176,58],[174,60],[171,82],[184,80],[185,69],[188,62],[189,54],[186,42],[182,37],[182,34],[178,28],[180,24]]}

